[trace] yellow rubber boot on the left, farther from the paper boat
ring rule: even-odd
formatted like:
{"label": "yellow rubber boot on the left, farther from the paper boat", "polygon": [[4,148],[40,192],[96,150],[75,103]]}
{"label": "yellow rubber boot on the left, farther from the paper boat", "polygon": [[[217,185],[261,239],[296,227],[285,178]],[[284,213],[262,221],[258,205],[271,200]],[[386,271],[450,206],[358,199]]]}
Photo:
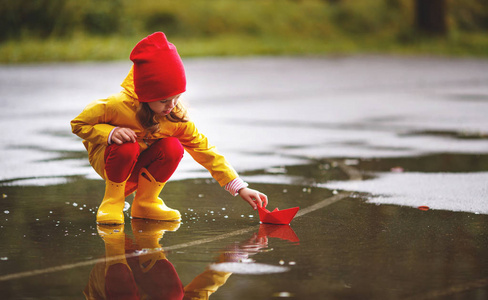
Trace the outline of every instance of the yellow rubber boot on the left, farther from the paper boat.
{"label": "yellow rubber boot on the left, farther from the paper boat", "polygon": [[98,224],[124,224],[125,183],[105,180],[105,195],[98,207]]}

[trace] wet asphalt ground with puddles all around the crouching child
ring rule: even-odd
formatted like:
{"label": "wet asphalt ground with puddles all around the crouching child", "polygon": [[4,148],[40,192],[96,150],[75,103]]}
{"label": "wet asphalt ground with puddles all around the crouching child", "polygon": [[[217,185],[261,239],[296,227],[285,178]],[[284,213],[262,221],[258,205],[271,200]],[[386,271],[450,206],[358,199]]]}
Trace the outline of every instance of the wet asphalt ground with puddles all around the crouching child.
{"label": "wet asphalt ground with puddles all around the crouching child", "polygon": [[[97,227],[103,181],[69,121],[119,91],[130,65],[0,66],[3,299],[83,299],[87,287],[107,296],[107,282],[127,286],[103,275],[113,261],[131,267],[144,295],[181,282],[189,297],[191,282],[213,274],[226,280],[210,299],[488,297],[488,61],[185,67],[199,129],[269,208],[300,207],[290,226],[260,225],[188,156],[161,194],[180,224],[131,220],[128,210],[122,228]],[[148,237],[163,250],[146,247]],[[154,257],[177,275],[159,265],[141,273]]]}

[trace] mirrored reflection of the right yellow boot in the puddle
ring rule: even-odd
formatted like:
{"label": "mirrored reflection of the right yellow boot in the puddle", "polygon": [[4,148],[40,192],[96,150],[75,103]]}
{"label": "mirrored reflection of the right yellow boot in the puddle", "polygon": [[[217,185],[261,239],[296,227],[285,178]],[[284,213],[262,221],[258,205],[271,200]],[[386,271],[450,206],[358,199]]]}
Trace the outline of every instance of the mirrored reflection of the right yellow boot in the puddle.
{"label": "mirrored reflection of the right yellow boot in the puddle", "polygon": [[139,256],[142,272],[147,273],[158,260],[166,259],[159,241],[166,231],[176,231],[180,222],[159,222],[155,220],[132,220],[132,232],[139,250],[145,250]]}

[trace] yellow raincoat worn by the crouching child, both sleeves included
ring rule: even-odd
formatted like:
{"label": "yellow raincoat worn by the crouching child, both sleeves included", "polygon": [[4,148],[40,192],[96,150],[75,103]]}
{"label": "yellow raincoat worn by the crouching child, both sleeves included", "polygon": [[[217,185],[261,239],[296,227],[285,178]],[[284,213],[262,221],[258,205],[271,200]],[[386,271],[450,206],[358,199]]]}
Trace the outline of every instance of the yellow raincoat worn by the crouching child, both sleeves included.
{"label": "yellow raincoat worn by the crouching child, both sleeves included", "polygon": [[209,144],[207,137],[199,133],[191,121],[175,123],[164,118],[160,121],[161,129],[158,132],[145,136],[144,129],[136,118],[139,101],[134,91],[132,70],[122,87],[124,90],[120,93],[90,103],[71,121],[72,132],[83,139],[90,164],[102,178],[105,179],[104,154],[108,137],[115,127],[132,129],[137,134],[141,152],[156,140],[170,136],[178,138],[186,152],[205,167],[221,186],[238,177],[227,160]]}

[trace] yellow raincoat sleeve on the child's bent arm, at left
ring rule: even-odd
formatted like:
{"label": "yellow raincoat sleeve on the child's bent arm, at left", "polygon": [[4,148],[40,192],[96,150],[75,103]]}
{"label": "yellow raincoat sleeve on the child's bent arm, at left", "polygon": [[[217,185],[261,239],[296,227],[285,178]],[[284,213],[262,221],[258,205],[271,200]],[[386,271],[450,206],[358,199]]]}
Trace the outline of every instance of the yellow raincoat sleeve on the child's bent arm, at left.
{"label": "yellow raincoat sleeve on the child's bent arm, at left", "polygon": [[93,144],[108,144],[110,132],[110,109],[107,100],[96,100],[71,121],[71,130],[80,138]]}

